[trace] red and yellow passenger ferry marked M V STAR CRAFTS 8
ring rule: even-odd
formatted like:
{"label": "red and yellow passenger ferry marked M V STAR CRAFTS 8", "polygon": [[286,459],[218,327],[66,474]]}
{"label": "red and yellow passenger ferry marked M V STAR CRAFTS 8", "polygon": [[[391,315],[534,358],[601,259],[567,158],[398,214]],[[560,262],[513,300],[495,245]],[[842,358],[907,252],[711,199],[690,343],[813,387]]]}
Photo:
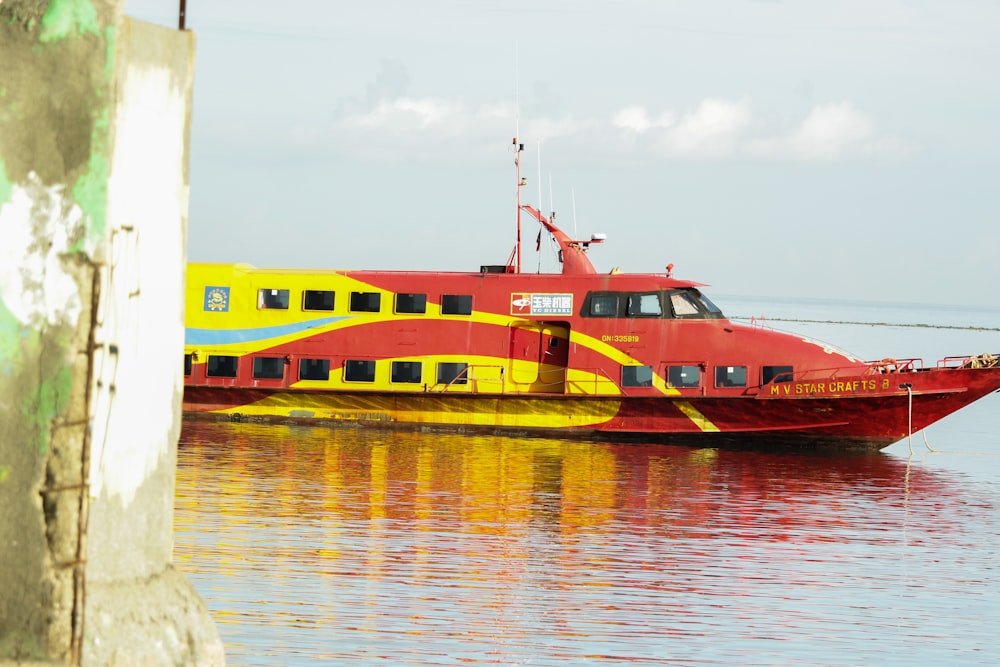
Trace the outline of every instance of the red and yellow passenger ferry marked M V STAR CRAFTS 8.
{"label": "red and yellow passenger ferry marked M V STAR CRAFTS 8", "polygon": [[[603,237],[517,212],[507,264],[473,272],[189,264],[186,416],[879,449],[1000,388],[996,355],[866,362],[732,322],[669,268],[599,274]],[[520,271],[522,212],[561,273]]]}

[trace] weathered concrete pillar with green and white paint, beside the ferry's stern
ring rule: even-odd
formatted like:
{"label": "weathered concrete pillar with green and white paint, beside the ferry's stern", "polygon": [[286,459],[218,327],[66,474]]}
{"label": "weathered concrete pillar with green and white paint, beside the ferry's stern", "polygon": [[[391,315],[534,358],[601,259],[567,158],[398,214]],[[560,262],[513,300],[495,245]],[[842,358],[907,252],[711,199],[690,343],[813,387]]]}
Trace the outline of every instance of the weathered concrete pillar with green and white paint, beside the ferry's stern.
{"label": "weathered concrete pillar with green and white paint, beside the ferry's stern", "polygon": [[221,664],[171,565],[191,33],[0,1],[0,662]]}

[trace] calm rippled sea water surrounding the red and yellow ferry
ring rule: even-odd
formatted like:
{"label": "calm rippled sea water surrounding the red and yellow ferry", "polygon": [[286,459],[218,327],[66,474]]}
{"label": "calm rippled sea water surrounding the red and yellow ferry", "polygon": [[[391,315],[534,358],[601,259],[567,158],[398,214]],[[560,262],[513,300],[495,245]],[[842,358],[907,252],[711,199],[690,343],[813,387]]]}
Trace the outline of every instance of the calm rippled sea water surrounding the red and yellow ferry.
{"label": "calm rippled sea water surrounding the red and yellow ferry", "polygon": [[[1000,322],[953,310],[930,323]],[[1000,352],[775,326],[870,358]],[[989,396],[912,457],[186,424],[175,561],[232,665],[993,665],[998,415]]]}

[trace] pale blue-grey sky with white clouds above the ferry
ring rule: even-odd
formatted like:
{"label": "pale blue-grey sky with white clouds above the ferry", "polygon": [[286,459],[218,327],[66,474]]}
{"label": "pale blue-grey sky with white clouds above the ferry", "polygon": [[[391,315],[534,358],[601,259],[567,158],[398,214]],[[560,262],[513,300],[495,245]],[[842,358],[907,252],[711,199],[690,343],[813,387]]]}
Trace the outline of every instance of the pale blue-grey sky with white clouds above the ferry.
{"label": "pale blue-grey sky with white clouds above the ferry", "polygon": [[[128,0],[177,25],[178,0]],[[188,256],[1000,308],[996,0],[187,0]],[[523,219],[523,270],[558,270]]]}

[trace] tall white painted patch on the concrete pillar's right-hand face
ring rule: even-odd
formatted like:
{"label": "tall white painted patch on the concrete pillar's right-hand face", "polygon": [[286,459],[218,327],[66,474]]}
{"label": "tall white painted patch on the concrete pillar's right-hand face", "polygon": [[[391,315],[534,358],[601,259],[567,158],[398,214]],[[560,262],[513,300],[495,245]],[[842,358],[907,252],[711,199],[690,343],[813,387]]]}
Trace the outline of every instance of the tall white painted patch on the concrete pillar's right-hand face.
{"label": "tall white painted patch on the concrete pillar's right-hand face", "polygon": [[[114,111],[91,495],[127,506],[180,428],[190,82],[126,58]],[[177,77],[180,78],[180,77]],[[117,354],[114,353],[114,346]],[[172,499],[171,499],[172,500]]]}

